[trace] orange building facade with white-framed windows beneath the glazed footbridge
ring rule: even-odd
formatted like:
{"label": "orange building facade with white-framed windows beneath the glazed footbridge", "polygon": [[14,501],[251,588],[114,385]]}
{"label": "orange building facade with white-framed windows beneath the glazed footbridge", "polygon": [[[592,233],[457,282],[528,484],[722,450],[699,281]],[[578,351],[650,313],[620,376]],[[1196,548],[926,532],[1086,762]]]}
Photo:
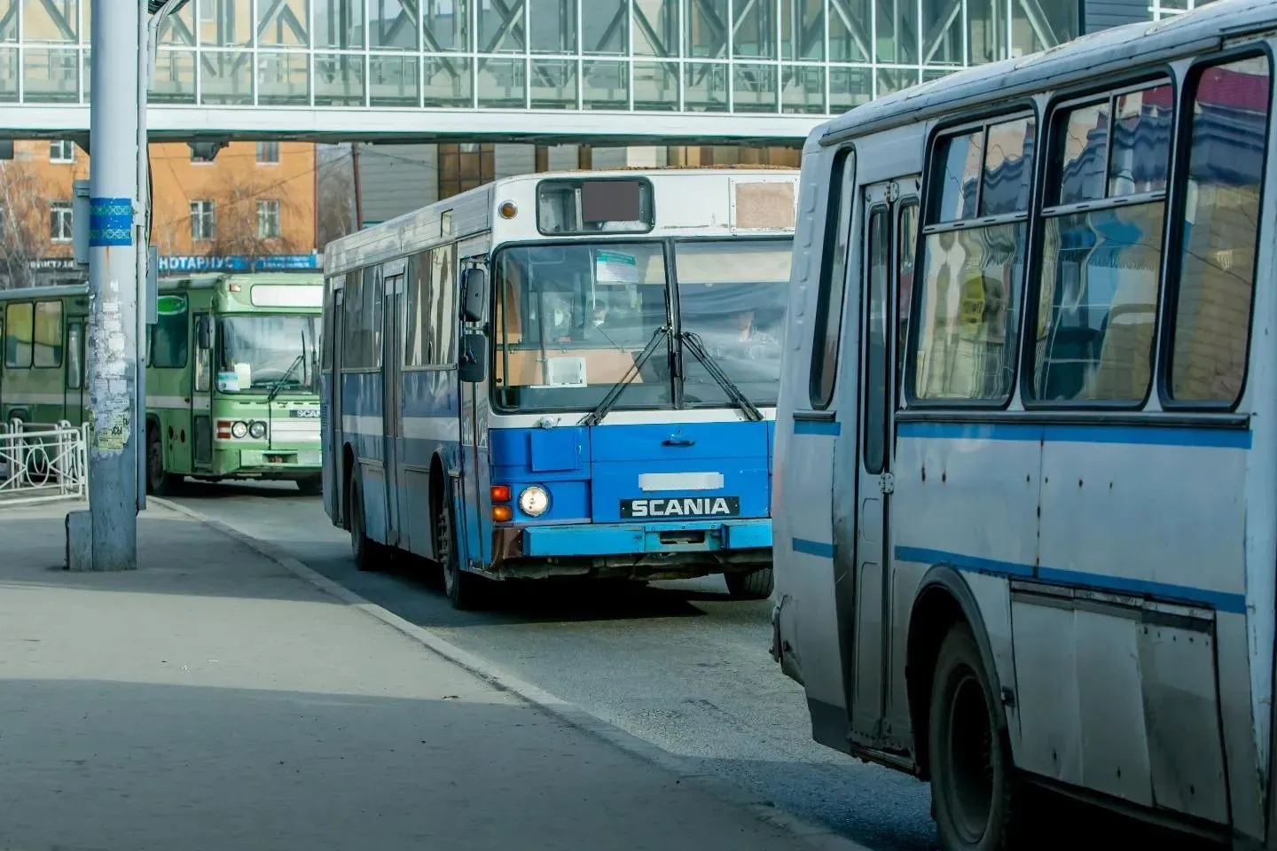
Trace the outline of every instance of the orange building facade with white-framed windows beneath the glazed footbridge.
{"label": "orange building facade with white-framed windows beneath the glazed footbridge", "polygon": [[[151,244],[161,270],[198,268],[194,258],[314,254],[315,174],[310,143],[232,142],[212,161],[185,143],[152,144]],[[87,279],[72,255],[73,184],[88,175],[88,154],[70,140],[18,142],[0,162],[0,276],[9,286]]]}

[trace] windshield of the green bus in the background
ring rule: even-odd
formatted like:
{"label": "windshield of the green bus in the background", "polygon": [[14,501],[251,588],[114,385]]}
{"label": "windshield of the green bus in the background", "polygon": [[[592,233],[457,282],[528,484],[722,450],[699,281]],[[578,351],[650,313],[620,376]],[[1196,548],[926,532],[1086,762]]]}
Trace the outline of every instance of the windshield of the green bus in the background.
{"label": "windshield of the green bus in the background", "polygon": [[218,371],[239,393],[319,392],[318,316],[223,316],[218,329]]}

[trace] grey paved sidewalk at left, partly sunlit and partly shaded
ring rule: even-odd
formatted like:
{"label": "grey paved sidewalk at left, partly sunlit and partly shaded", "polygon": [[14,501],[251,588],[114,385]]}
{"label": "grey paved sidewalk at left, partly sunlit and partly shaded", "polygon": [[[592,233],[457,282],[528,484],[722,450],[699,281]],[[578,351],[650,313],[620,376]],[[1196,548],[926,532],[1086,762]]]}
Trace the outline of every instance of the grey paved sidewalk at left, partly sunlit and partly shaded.
{"label": "grey paved sidewalk at left, partly sunlit and partly shaded", "polygon": [[0,848],[811,847],[183,514],[68,573],[66,509],[0,510]]}

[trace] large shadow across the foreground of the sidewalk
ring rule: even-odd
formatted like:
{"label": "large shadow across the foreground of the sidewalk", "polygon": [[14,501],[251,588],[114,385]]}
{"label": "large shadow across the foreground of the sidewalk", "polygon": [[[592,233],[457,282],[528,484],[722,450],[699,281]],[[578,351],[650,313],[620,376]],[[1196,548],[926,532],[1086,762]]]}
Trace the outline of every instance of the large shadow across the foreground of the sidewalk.
{"label": "large shadow across the foreground of the sidewalk", "polygon": [[6,679],[0,717],[4,847],[802,847],[501,695]]}

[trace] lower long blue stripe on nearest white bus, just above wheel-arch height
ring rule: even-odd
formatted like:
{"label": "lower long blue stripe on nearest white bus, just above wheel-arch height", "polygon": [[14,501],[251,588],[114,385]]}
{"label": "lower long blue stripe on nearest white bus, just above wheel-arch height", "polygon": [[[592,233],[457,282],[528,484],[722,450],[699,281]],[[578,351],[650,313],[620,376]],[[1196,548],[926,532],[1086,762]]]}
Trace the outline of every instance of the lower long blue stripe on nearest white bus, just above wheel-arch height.
{"label": "lower long blue stripe on nearest white bus, just above wheel-arch height", "polygon": [[[962,552],[945,552],[944,550],[898,546],[895,547],[895,558],[900,561],[912,561],[916,564],[948,564],[958,570],[985,573],[1011,579],[1034,578],[1034,568],[1031,564],[996,561],[994,559],[981,559],[972,555],[964,555]],[[1038,568],[1036,578],[1051,584],[1087,588],[1091,591],[1198,603],[1214,609],[1216,611],[1225,611],[1235,615],[1241,615],[1246,611],[1246,596],[1226,591],[1208,591],[1205,588],[1176,586],[1166,582],[1151,582],[1148,579],[1131,579],[1128,577],[1110,577],[1094,573],[1083,573],[1080,570],[1061,570],[1059,568]]]}

